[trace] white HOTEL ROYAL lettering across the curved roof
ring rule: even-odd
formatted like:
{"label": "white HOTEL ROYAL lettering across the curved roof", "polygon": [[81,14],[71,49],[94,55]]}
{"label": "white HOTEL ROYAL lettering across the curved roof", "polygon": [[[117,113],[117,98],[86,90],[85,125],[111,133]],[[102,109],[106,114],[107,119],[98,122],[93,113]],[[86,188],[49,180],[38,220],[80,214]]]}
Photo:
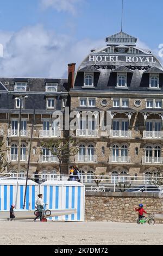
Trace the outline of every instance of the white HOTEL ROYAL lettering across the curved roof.
{"label": "white HOTEL ROYAL lettering across the curved roof", "polygon": [[90,55],[90,62],[156,63],[154,57]]}

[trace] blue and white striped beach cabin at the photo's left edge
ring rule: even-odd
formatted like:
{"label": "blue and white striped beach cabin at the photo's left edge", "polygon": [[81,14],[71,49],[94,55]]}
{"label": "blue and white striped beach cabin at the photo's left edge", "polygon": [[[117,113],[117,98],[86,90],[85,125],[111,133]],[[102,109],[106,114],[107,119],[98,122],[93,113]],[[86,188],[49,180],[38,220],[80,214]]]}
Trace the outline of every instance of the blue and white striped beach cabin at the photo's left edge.
{"label": "blue and white striped beach cabin at the photo's left edge", "polygon": [[[34,210],[39,186],[32,180],[28,180],[27,185],[25,209]],[[25,187],[25,179],[0,179],[0,211],[9,211],[11,204],[15,204],[16,209],[23,209]]]}

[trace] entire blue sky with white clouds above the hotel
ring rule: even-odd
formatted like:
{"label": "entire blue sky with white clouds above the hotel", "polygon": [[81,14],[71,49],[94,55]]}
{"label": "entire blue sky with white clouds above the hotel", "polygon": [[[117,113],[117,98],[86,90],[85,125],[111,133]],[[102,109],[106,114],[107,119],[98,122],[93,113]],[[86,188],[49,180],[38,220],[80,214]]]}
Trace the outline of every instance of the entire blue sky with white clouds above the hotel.
{"label": "entire blue sky with white clouds above the hotel", "polygon": [[[67,77],[121,30],[122,0],[0,0],[0,77]],[[122,31],[158,56],[162,0],[124,0]],[[163,63],[163,57],[160,57]]]}

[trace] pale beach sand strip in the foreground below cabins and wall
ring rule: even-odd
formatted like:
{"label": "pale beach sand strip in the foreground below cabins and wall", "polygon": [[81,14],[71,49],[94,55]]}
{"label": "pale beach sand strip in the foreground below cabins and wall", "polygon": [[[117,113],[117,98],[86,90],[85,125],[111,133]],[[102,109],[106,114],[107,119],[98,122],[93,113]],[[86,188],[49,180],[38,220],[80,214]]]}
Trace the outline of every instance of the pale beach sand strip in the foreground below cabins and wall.
{"label": "pale beach sand strip in the foreground below cabins and wall", "polygon": [[163,225],[0,221],[0,245],[163,245]]}

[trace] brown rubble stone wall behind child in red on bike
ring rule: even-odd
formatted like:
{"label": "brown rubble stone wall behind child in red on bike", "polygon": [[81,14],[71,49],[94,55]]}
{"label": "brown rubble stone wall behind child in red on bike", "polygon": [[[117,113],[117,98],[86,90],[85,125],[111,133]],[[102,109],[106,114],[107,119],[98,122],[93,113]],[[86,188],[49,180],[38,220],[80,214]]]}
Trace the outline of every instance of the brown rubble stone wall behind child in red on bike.
{"label": "brown rubble stone wall behind child in red on bike", "polygon": [[[142,203],[148,213],[163,213],[163,199],[152,193],[86,192],[85,221],[135,222],[134,207]],[[156,220],[156,222],[163,223]]]}

